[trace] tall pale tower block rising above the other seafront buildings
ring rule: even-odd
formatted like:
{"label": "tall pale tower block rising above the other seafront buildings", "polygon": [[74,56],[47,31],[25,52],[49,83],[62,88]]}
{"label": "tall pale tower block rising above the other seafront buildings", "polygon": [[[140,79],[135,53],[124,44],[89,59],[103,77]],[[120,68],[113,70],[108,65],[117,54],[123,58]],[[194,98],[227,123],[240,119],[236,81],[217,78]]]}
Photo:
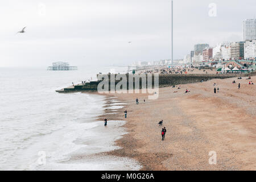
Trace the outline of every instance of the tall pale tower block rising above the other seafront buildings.
{"label": "tall pale tower block rising above the other seafront buildings", "polygon": [[256,40],[256,19],[243,21],[243,41]]}

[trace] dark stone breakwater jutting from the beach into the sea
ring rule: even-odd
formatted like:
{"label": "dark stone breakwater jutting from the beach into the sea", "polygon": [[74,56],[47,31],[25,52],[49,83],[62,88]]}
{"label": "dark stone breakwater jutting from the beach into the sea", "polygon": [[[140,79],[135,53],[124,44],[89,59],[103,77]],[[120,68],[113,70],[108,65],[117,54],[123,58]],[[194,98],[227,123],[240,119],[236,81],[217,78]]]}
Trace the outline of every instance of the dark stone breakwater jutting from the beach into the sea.
{"label": "dark stone breakwater jutting from the beach into the sea", "polygon": [[[115,85],[120,82],[120,80],[115,79],[118,74],[113,75],[97,75],[98,76],[107,76],[109,78],[109,90],[111,88],[110,77],[114,77],[114,83]],[[196,82],[201,81],[208,81],[212,79],[225,79],[225,78],[231,78],[231,77],[248,77],[248,76],[254,76],[256,75],[256,72],[252,73],[243,73],[243,74],[184,74],[184,75],[172,75],[172,74],[159,74],[159,87],[166,87],[166,86],[172,86],[172,85],[180,85],[180,84],[192,84]],[[124,74],[122,76],[125,76],[127,79],[127,89],[134,89],[135,88],[135,81],[136,79],[139,80],[139,89],[142,88],[142,80],[143,77],[148,78],[147,74]],[[121,76],[121,77],[122,77]],[[133,88],[129,88],[129,77],[132,77],[133,80]],[[154,74],[152,74],[152,86],[154,87]],[[91,81],[87,82],[85,84],[78,84],[75,86],[69,86],[67,88],[56,90],[56,92],[59,93],[69,93],[69,92],[96,92],[98,88],[98,84],[102,81]],[[122,79],[121,79],[122,80]],[[147,79],[146,79],[147,80]],[[146,86],[148,86],[148,83],[146,81]],[[130,86],[131,87],[131,86]]]}

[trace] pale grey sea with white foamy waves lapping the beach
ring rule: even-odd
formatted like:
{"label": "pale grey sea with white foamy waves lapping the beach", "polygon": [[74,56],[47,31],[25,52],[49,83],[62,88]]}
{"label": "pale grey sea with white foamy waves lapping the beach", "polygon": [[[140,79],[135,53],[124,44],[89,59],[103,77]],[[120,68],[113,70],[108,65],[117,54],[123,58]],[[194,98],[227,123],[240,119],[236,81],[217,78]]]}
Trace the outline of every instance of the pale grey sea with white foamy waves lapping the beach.
{"label": "pale grey sea with white foamy waves lapping the beach", "polygon": [[99,72],[126,70],[0,68],[0,170],[140,169],[133,159],[102,155],[118,149],[114,141],[126,133],[119,127],[125,121],[109,121],[106,128],[103,121],[97,121],[104,113],[105,96],[55,92],[72,82],[96,80]]}

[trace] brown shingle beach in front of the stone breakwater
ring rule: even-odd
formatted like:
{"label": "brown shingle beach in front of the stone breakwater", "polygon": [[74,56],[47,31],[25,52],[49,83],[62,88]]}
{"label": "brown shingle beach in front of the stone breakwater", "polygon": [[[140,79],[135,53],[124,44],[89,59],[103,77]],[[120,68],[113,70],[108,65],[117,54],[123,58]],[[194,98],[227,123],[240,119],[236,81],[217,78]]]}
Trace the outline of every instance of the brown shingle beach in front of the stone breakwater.
{"label": "brown shingle beach in front of the stone breakwater", "polygon": [[[216,94],[214,82],[220,88]],[[147,100],[146,94],[106,94],[107,104],[127,104],[106,109],[98,119],[125,120],[128,132],[115,142],[122,148],[106,154],[138,160],[142,170],[255,170],[256,88],[248,83],[243,77],[160,88],[157,100]],[[217,164],[209,164],[210,151],[216,151]]]}

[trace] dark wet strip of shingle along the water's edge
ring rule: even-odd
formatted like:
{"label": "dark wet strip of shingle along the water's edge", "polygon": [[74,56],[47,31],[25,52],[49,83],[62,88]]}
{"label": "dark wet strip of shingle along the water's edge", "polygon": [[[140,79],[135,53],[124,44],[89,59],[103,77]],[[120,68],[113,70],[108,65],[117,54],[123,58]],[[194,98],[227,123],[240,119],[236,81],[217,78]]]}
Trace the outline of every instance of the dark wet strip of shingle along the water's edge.
{"label": "dark wet strip of shingle along the water's edge", "polygon": [[[96,92],[92,92],[90,94],[98,94]],[[109,98],[115,98],[115,100],[118,100],[119,102],[127,102],[127,100],[122,100],[121,98],[118,98],[117,96],[113,94],[98,94],[100,96],[105,96],[105,100],[107,101],[107,105],[104,107],[109,107],[110,105],[110,100]],[[101,114],[99,118],[97,118],[98,121],[104,121],[105,118],[110,118],[109,120],[112,121],[123,121],[124,118],[124,110],[129,108],[129,103],[126,103],[125,105],[122,105],[123,108],[117,109],[117,111],[114,115],[109,117],[109,113],[112,113],[111,110],[104,110],[105,113]],[[127,119],[126,119],[127,120]],[[121,158],[129,158],[138,161],[139,164],[142,165],[142,167],[139,169],[139,171],[164,171],[166,170],[165,167],[163,167],[162,164],[155,165],[158,163],[159,160],[168,159],[172,156],[172,154],[164,154],[163,152],[159,152],[159,154],[150,154],[148,152],[146,155],[145,154],[140,154],[139,152],[136,152],[135,150],[139,147],[142,146],[142,143],[140,143],[138,140],[136,140],[132,134],[130,133],[132,125],[129,124],[129,122],[126,121],[126,123],[122,126],[127,130],[127,134],[123,134],[120,139],[117,139],[114,141],[114,145],[120,147],[119,149],[114,149],[112,151],[108,152],[102,152],[98,155],[106,155],[106,156],[117,156]],[[153,161],[153,162],[152,162]]]}

